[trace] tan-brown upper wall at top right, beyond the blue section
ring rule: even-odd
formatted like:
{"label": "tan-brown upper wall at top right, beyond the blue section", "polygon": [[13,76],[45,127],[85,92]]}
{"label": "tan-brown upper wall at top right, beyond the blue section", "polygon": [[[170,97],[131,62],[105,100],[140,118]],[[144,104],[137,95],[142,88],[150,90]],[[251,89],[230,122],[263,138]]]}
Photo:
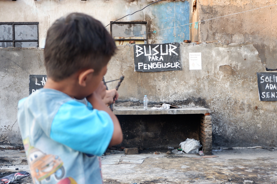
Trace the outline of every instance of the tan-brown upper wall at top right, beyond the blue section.
{"label": "tan-brown upper wall at top right, beyond the blue section", "polygon": [[[263,6],[276,0],[198,0],[199,20],[211,19]],[[277,69],[277,6],[201,22],[200,41],[229,40],[231,43],[250,42],[257,49],[265,67]]]}

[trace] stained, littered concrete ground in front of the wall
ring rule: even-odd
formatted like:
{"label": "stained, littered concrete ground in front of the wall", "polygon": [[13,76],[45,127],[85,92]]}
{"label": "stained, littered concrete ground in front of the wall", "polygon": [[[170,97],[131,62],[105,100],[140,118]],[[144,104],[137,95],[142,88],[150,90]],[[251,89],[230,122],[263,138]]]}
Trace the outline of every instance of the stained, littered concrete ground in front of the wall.
{"label": "stained, littered concrete ground in front of the wall", "polygon": [[[160,151],[160,150],[158,150]],[[142,151],[142,164],[102,165],[105,184],[123,183],[194,183],[194,184],[277,184],[277,150],[229,149],[212,151],[217,158],[201,158],[196,154],[165,154]],[[102,159],[115,155],[107,155]],[[20,170],[29,171],[24,153],[14,150],[0,151],[0,178]],[[119,156],[120,158],[120,156]],[[195,159],[201,158],[201,159]],[[11,166],[12,165],[12,166]],[[19,170],[15,170],[19,168]],[[248,180],[248,181],[247,181]],[[22,183],[32,183],[25,178]]]}

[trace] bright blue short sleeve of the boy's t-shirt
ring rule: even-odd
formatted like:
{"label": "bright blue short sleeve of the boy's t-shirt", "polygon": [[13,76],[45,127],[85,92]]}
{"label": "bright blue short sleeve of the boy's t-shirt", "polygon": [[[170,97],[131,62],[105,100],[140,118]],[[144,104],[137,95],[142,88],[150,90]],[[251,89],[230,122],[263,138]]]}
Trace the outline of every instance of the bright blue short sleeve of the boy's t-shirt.
{"label": "bright blue short sleeve of the boy's t-shirt", "polygon": [[70,100],[61,105],[55,115],[50,138],[74,150],[101,156],[113,131],[114,124],[107,112]]}

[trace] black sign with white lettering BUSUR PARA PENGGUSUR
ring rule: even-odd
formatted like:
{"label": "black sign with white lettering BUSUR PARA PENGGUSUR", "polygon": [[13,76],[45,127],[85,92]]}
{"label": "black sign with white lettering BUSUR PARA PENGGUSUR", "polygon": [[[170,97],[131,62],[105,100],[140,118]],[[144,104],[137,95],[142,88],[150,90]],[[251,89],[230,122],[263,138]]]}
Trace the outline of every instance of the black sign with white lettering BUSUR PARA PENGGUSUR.
{"label": "black sign with white lettering BUSUR PARA PENGGUSUR", "polygon": [[139,72],[182,70],[179,43],[134,45],[134,60]]}

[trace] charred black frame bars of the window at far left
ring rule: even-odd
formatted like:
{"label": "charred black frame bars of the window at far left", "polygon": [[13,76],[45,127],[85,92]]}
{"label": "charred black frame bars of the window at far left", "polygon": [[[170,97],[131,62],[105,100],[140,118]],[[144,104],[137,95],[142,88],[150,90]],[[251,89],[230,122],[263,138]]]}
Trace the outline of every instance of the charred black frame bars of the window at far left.
{"label": "charred black frame bars of the window at far left", "polygon": [[[15,39],[15,25],[37,25],[37,40],[16,40]],[[39,22],[0,22],[0,25],[12,25],[12,40],[0,40],[0,42],[12,42],[12,47],[15,47],[15,42],[37,42],[37,47],[40,46],[39,44]]]}

